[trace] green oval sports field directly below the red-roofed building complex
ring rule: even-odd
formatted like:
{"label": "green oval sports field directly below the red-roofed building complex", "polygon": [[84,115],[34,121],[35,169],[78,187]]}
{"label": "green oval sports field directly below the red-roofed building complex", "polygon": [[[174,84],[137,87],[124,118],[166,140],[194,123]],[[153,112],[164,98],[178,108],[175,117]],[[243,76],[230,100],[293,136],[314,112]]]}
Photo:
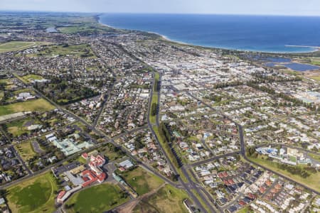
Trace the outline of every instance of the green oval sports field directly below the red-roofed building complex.
{"label": "green oval sports field directly below the red-roofed building complex", "polygon": [[105,183],[75,193],[66,204],[72,206],[68,212],[105,212],[129,200],[118,185]]}

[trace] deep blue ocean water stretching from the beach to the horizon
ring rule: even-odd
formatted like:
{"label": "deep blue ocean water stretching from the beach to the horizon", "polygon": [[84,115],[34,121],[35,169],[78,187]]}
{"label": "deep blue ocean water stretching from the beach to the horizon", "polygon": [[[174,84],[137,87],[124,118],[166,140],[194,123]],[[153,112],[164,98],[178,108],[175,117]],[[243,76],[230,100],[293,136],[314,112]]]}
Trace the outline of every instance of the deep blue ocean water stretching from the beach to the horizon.
{"label": "deep blue ocean water stretching from the beach to the horizon", "polygon": [[297,45],[320,46],[320,17],[108,13],[100,22],[214,48],[303,53],[316,49]]}

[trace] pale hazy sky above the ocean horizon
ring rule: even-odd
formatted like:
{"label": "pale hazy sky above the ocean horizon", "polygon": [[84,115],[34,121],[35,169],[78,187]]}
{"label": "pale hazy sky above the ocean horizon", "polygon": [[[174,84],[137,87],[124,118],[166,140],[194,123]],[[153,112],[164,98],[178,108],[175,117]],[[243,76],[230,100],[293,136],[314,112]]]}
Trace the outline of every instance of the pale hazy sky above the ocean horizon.
{"label": "pale hazy sky above the ocean horizon", "polygon": [[320,0],[0,0],[0,10],[320,16]]}

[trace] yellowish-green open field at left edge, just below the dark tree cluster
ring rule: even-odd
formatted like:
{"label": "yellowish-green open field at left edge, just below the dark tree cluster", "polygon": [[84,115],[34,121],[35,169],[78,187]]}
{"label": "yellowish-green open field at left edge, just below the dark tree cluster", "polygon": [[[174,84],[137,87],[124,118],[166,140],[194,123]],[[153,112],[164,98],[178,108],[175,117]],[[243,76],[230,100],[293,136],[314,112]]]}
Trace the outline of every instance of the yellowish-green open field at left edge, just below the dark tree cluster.
{"label": "yellowish-green open field at left edge, just below the dark tree cluster", "polygon": [[49,111],[52,109],[55,109],[55,107],[45,99],[35,99],[28,102],[18,102],[0,106],[0,116],[14,114],[20,111]]}

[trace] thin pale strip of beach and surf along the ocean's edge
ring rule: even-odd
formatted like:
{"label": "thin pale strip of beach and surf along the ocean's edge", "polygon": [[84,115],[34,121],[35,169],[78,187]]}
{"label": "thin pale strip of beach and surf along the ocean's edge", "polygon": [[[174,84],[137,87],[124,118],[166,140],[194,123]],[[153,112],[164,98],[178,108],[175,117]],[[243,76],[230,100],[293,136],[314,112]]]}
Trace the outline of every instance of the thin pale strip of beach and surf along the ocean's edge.
{"label": "thin pale strip of beach and surf along the ocean's edge", "polygon": [[212,49],[215,49],[215,50],[231,50],[231,51],[238,51],[238,52],[266,53],[266,54],[268,54],[268,53],[270,53],[270,54],[308,54],[308,53],[320,52],[320,47],[306,46],[306,45],[284,45],[284,46],[286,46],[286,47],[296,47],[296,48],[313,48],[313,50],[302,51],[302,52],[285,52],[285,51],[284,52],[270,52],[270,51],[264,51],[264,50],[241,50],[241,49],[236,49],[236,48],[214,47],[214,46],[210,46],[210,45],[196,45],[196,44],[193,44],[193,43],[186,43],[186,42],[183,42],[183,41],[174,40],[174,39],[169,38],[167,35],[162,35],[160,33],[156,33],[156,32],[153,32],[153,31],[132,30],[132,29],[117,28],[115,26],[110,26],[110,25],[108,25],[106,23],[102,23],[100,16],[103,16],[103,13],[97,15],[97,18],[96,18],[97,22],[102,24],[102,25],[104,25],[104,26],[107,26],[109,28],[118,29],[118,30],[125,30],[125,31],[137,31],[137,32],[152,33],[152,34],[158,35],[161,39],[166,40],[166,41],[171,42],[171,43],[177,43],[177,44],[181,44],[181,45],[189,45],[189,46],[198,47],[198,48],[212,48]]}

